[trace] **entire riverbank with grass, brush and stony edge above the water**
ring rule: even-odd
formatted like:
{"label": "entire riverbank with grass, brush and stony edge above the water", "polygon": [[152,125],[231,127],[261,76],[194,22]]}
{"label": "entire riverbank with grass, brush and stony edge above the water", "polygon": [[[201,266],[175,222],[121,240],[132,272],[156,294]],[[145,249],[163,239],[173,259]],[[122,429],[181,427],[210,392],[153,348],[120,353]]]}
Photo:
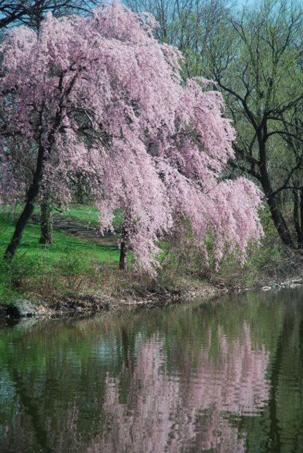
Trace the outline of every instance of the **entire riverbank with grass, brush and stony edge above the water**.
{"label": "entire riverbank with grass, brush and stony edge above the water", "polygon": [[[39,213],[35,212],[23,235],[17,256],[0,260],[0,316],[13,316],[19,301],[32,306],[29,314],[69,316],[101,310],[158,308],[192,299],[208,300],[227,292],[277,290],[303,282],[303,255],[282,248],[268,232],[260,248],[249,250],[243,267],[226,256],[219,272],[211,263],[203,269],[201,257],[163,251],[156,278],[132,269],[118,270],[119,222],[116,234],[102,236],[97,212],[75,205],[54,216],[54,243],[39,244]],[[0,253],[14,228],[11,216],[0,217]],[[196,261],[195,261],[196,260]]]}

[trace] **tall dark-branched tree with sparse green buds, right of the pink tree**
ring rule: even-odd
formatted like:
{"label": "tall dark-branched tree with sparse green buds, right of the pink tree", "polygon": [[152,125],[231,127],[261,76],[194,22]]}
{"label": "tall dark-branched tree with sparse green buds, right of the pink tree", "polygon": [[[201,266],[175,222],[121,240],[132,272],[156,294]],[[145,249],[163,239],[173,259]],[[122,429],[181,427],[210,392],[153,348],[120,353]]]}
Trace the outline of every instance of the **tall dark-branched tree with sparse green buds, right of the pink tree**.
{"label": "tall dark-branched tree with sparse green buds, right of the pink tree", "polygon": [[[205,48],[204,66],[224,93],[236,125],[233,165],[258,180],[275,228],[291,248],[302,246],[303,226],[297,208],[303,170],[302,26],[299,3],[264,0],[220,24]],[[295,223],[300,226],[295,239],[294,225],[282,212],[285,190],[295,190]]]}

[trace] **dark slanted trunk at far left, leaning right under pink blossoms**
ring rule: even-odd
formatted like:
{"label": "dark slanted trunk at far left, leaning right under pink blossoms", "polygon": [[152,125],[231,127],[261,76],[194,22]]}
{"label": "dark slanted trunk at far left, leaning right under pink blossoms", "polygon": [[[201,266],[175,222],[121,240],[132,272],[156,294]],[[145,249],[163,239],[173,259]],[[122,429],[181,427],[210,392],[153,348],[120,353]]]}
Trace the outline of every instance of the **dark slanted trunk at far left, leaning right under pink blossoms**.
{"label": "dark slanted trunk at far left, leaning right under pink blossoms", "polygon": [[16,252],[17,247],[21,241],[24,228],[28,223],[28,220],[30,219],[32,212],[34,211],[34,203],[36,201],[36,197],[39,194],[39,188],[42,178],[44,156],[45,148],[42,145],[40,145],[36,163],[36,171],[34,172],[32,185],[28,190],[28,196],[24,209],[21,212],[19,219],[17,220],[16,227],[14,229],[14,234],[12,235],[12,239],[10,240],[8,248],[6,249],[5,253],[6,258],[12,258],[14,256],[14,253]]}

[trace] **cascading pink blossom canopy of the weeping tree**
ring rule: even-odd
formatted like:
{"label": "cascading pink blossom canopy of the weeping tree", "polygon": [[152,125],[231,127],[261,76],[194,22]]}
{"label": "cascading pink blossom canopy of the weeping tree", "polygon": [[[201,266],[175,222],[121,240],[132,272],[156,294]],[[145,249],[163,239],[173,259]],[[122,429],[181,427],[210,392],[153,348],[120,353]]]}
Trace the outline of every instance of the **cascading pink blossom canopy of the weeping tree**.
{"label": "cascading pink blossom canopy of the weeping tree", "polygon": [[24,199],[43,148],[40,194],[71,200],[70,177],[85,175],[101,229],[123,210],[138,266],[155,272],[158,241],[189,219],[197,243],[215,234],[216,259],[262,234],[260,192],[246,179],[220,182],[234,130],[222,96],[204,79],[180,77],[182,55],[154,39],[154,20],[118,1],[90,18],[48,14],[34,34],[10,30],[1,43],[3,200]]}

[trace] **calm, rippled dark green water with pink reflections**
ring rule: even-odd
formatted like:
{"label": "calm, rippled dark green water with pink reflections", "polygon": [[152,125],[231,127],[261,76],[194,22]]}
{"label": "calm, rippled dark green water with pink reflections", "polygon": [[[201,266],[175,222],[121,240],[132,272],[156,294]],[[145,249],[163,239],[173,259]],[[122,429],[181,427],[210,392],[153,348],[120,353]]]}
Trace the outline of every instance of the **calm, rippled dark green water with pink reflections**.
{"label": "calm, rippled dark green water with pink reflections", "polygon": [[3,325],[0,452],[303,452],[302,302]]}

